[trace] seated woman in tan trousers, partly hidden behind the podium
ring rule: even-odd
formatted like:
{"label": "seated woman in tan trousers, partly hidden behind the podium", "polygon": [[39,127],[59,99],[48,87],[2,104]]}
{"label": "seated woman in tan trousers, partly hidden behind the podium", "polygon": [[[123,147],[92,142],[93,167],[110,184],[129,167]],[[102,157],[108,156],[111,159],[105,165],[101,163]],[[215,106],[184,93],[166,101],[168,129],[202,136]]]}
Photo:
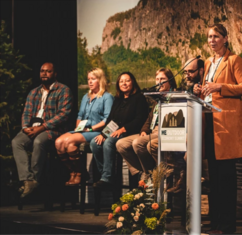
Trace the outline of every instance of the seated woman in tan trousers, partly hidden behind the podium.
{"label": "seated woman in tan trousers, partly hidden behind the podium", "polygon": [[[173,77],[171,70],[161,68],[156,72],[156,84],[168,81]],[[174,77],[161,85],[159,91],[176,89]],[[138,181],[139,173],[143,172],[145,177],[149,170],[152,170],[157,163],[158,149],[158,104],[153,105],[149,116],[143,125],[140,134],[128,136],[119,140],[116,147],[121,156],[125,159],[130,173],[134,176],[134,184]]]}

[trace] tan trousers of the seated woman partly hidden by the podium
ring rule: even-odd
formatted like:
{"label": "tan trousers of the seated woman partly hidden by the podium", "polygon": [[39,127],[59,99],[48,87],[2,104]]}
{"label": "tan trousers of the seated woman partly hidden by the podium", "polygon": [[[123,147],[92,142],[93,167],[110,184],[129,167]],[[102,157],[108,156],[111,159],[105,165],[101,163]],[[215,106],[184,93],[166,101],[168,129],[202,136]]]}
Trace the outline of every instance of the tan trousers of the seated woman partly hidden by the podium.
{"label": "tan trousers of the seated woman partly hidden by the podium", "polygon": [[116,148],[126,161],[132,175],[140,171],[148,173],[157,162],[158,127],[150,135],[136,134],[122,138],[116,143]]}

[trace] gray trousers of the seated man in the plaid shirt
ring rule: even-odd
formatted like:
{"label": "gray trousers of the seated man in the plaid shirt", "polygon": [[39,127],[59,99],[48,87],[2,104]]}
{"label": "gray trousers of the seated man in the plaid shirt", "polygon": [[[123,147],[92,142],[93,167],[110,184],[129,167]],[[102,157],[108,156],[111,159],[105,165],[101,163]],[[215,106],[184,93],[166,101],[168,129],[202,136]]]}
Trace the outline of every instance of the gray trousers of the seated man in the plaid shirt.
{"label": "gray trousers of the seated man in the plaid shirt", "polygon": [[[46,132],[30,139],[20,131],[12,140],[13,156],[17,165],[19,180],[40,180],[40,175],[47,157],[47,150],[52,140]],[[27,150],[33,150],[29,159]]]}

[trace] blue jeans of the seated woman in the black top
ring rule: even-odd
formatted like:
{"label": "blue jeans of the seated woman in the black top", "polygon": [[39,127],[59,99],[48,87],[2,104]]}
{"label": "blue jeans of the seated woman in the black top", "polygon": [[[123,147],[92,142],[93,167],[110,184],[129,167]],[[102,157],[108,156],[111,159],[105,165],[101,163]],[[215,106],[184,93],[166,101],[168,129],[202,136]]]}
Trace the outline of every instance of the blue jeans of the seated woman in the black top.
{"label": "blue jeans of the seated woman in the black top", "polygon": [[101,173],[102,181],[112,183],[113,164],[116,157],[116,142],[124,136],[108,137],[102,145],[97,145],[95,139],[90,142],[90,148],[96,161],[98,171]]}

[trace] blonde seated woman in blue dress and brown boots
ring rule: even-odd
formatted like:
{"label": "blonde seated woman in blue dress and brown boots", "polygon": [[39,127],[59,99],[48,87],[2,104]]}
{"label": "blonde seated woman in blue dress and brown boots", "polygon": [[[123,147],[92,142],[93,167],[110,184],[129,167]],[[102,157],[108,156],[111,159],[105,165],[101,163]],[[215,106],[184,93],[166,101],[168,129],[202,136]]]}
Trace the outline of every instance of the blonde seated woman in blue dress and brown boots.
{"label": "blonde seated woman in blue dress and brown boots", "polygon": [[[61,161],[71,171],[70,179],[66,182],[66,185],[79,184],[81,172],[87,174],[86,166],[81,166],[79,162],[78,146],[81,143],[90,142],[100,134],[113,104],[113,96],[107,92],[107,80],[103,70],[94,68],[88,72],[87,77],[89,92],[82,98],[76,129],[61,135],[55,141]],[[85,127],[78,131],[77,127],[81,121],[84,121]]]}

